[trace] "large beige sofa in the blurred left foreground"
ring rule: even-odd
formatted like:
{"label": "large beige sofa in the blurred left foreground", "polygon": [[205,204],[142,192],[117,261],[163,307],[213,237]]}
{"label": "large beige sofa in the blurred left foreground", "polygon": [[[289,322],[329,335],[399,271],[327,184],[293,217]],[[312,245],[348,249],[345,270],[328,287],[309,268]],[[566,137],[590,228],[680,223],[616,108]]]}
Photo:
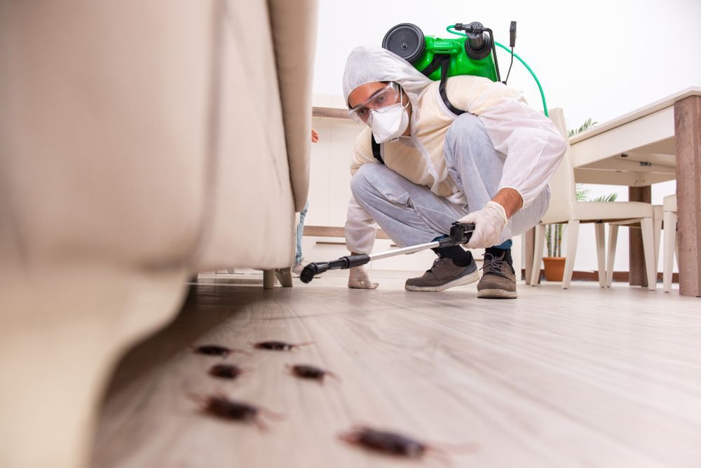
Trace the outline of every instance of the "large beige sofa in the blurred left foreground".
{"label": "large beige sofa in the blurred left foreground", "polygon": [[0,466],[86,462],[192,272],[284,268],[314,0],[0,1]]}

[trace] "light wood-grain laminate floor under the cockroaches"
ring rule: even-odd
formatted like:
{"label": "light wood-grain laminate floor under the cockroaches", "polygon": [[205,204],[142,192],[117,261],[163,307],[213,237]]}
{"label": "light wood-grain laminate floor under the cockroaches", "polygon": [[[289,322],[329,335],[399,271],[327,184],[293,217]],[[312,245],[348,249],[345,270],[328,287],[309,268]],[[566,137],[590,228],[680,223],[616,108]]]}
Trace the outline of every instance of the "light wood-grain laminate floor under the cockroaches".
{"label": "light wood-grain laminate floor under the cockroaches", "polygon": [[[701,467],[701,300],[594,283],[477,299],[475,285],[376,291],[344,272],[264,291],[252,275],[200,275],[177,319],[119,364],[95,436],[93,466],[441,467],[349,446],[355,423],[440,443],[472,443],[453,467]],[[191,345],[314,344],[255,350],[207,375],[217,357]],[[341,383],[299,380],[285,364],[331,369]],[[254,425],[198,413],[188,393],[224,392],[284,413]]]}

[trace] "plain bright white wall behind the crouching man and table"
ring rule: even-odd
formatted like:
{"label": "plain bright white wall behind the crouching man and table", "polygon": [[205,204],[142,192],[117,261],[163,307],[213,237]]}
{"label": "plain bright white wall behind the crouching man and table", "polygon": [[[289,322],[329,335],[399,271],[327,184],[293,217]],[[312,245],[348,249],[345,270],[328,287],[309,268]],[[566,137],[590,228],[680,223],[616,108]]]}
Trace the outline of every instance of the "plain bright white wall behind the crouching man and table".
{"label": "plain bright white wall behind the crouching man and table", "polygon": [[[508,44],[511,20],[518,22],[515,52],[538,75],[547,106],[565,110],[568,128],[577,128],[590,117],[604,123],[682,88],[701,85],[701,60],[697,59],[701,0],[320,0],[314,92],[340,95],[343,67],[351,49],[379,45],[397,23],[413,22],[427,35],[447,37],[447,25],[479,21],[494,29],[498,42]],[[505,74],[508,53],[501,49],[498,53]],[[509,85],[522,90],[531,106],[540,109],[538,88],[518,62]],[[334,153],[334,160],[337,157],[341,158],[339,152]],[[316,171],[312,167],[312,200]],[[592,197],[615,191],[619,200],[627,200],[627,187],[587,188]],[[653,186],[653,202],[661,204],[662,197],[674,190],[674,182]],[[345,208],[333,201],[329,209],[327,216],[336,225],[336,219],[345,216]],[[309,216],[311,223],[313,210]],[[594,252],[593,228],[583,226],[576,268],[596,268]],[[620,231],[615,268],[627,270],[625,229]]]}

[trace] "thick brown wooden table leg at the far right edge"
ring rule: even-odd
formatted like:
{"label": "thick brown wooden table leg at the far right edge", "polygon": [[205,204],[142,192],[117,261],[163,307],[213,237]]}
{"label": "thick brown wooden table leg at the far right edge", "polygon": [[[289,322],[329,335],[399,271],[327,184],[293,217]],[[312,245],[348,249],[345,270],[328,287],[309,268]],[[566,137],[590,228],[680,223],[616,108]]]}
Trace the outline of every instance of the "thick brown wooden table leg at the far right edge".
{"label": "thick brown wooden table leg at the far right edge", "polygon": [[[701,296],[701,96],[674,104],[679,294]],[[667,226],[665,226],[665,229]]]}

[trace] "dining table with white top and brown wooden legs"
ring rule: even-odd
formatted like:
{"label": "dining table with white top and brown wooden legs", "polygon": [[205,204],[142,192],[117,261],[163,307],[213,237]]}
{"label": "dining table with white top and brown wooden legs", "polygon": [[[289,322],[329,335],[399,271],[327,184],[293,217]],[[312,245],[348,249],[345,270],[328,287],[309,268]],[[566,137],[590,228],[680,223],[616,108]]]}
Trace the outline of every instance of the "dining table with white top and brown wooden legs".
{"label": "dining table with white top and brown wooden legs", "polygon": [[[577,182],[628,186],[630,201],[651,202],[651,184],[676,179],[679,293],[701,296],[701,87],[614,118],[569,144]],[[631,284],[647,286],[638,230],[631,230],[629,252]]]}

